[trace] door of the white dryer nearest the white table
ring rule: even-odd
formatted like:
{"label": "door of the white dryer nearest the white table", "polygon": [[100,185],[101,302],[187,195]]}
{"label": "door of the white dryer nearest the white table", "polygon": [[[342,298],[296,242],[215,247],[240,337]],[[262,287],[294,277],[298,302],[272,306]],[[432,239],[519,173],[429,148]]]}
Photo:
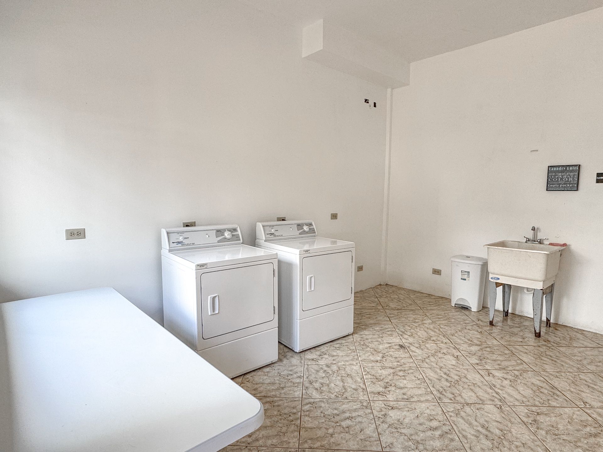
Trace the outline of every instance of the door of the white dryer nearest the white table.
{"label": "door of the white dryer nearest the white table", "polygon": [[203,339],[274,319],[274,266],[271,262],[201,275]]}

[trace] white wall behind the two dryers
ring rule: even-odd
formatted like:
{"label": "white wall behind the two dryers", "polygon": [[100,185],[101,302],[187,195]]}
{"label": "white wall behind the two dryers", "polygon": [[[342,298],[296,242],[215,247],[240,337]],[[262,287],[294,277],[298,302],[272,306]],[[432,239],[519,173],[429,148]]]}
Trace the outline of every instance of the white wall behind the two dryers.
{"label": "white wall behind the two dryers", "polygon": [[356,287],[379,283],[385,89],[236,1],[2,13],[0,301],[112,286],[160,321],[160,228],[233,222],[252,244],[277,215],[353,240]]}

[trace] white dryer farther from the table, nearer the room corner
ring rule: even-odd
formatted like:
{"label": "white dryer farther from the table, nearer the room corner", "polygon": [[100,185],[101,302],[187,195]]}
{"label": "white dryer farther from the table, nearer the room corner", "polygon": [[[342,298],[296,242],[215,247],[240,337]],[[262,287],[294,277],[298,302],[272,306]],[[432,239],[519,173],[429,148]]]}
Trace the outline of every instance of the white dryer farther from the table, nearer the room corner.
{"label": "white dryer farther from the table, nearer the room corner", "polygon": [[256,246],[279,255],[279,341],[306,350],[352,333],[353,242],[317,237],[313,221],[257,223]]}

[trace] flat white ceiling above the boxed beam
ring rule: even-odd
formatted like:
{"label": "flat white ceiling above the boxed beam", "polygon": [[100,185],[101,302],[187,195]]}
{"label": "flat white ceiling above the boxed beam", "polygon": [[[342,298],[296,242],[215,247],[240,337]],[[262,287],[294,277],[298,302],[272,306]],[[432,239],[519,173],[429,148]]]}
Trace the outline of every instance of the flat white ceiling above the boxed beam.
{"label": "flat white ceiling above the boxed beam", "polygon": [[300,27],[332,20],[409,62],[603,7],[603,0],[242,1]]}

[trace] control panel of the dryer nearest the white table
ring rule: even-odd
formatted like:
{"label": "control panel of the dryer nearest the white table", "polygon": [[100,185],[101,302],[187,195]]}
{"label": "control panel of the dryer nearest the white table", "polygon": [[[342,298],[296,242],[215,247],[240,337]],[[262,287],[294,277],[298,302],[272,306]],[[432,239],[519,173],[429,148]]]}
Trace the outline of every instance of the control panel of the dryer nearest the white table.
{"label": "control panel of the dryer nearest the white table", "polygon": [[241,230],[236,224],[210,225],[161,230],[164,250],[192,250],[220,245],[241,245]]}

